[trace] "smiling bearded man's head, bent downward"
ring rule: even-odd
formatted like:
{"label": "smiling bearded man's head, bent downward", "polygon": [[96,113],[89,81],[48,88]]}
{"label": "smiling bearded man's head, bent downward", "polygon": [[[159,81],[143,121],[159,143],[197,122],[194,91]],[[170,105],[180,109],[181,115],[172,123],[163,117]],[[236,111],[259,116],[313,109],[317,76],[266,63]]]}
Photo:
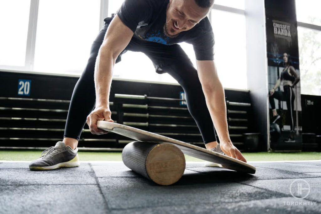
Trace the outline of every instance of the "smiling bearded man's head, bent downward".
{"label": "smiling bearded man's head, bent downward", "polygon": [[164,33],[170,38],[192,29],[212,9],[214,0],[169,0]]}

